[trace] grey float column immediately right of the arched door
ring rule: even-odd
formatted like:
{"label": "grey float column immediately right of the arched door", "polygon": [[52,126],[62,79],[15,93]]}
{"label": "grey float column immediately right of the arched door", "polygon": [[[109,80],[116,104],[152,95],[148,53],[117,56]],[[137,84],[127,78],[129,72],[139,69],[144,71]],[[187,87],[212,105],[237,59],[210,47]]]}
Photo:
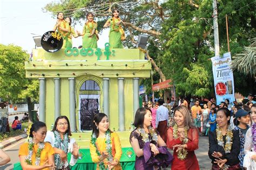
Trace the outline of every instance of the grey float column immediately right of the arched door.
{"label": "grey float column immediately right of the arched door", "polygon": [[103,112],[109,117],[109,78],[103,78]]}

